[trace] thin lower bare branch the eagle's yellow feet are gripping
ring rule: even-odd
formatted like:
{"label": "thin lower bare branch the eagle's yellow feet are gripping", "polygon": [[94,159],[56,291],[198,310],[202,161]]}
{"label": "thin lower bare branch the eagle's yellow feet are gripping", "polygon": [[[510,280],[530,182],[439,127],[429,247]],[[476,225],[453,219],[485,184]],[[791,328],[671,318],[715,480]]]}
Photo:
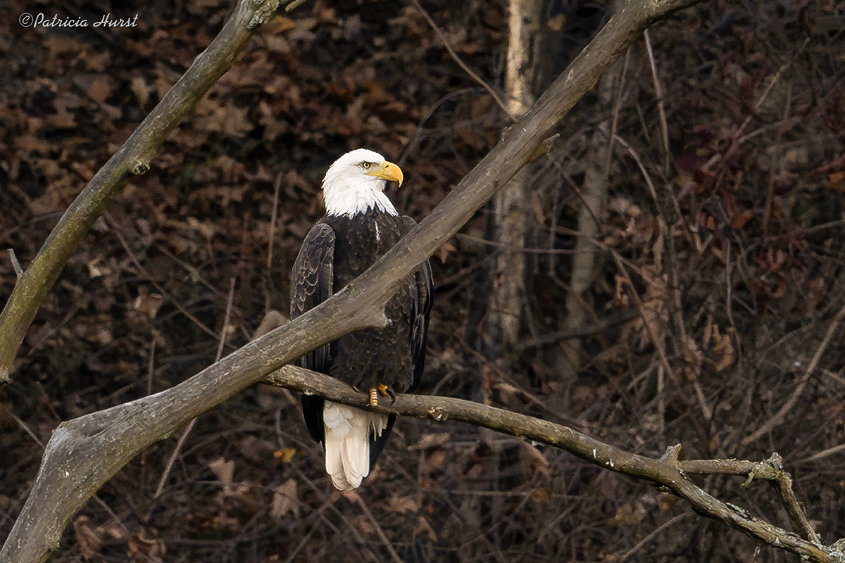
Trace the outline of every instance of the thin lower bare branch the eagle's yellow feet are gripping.
{"label": "thin lower bare branch the eagle's yellow feet are gripping", "polygon": [[[773,453],[764,462],[730,460],[679,461],[680,446],[673,446],[659,459],[637,455],[582,434],[568,426],[554,424],[525,414],[499,409],[459,398],[399,395],[395,403],[369,407],[368,395],[323,374],[286,365],[268,377],[270,383],[299,392],[316,393],[339,403],[352,404],[384,414],[401,414],[421,419],[458,420],[497,430],[511,436],[536,441],[570,452],[588,463],[620,474],[646,479],[671,490],[690,503],[704,517],[721,520],[731,528],[780,549],[787,549],[813,561],[842,561],[842,553],[820,544],[818,536],[792,491],[792,479],[783,471],[781,457]],[[752,516],[739,506],[719,501],[695,485],[687,474],[730,474],[766,479],[778,486],[787,506],[795,533]],[[804,538],[799,537],[801,533]]]}

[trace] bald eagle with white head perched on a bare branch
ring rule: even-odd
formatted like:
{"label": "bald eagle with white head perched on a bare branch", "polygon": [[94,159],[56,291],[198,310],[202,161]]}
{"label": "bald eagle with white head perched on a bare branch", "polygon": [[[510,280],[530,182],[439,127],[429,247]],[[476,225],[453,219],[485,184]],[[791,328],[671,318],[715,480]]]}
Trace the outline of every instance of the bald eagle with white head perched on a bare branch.
{"label": "bald eagle with white head perched on a bare branch", "polygon": [[[402,183],[399,166],[357,149],[325,173],[326,214],[308,232],[291,273],[291,318],[318,306],[373,265],[416,223],[396,213],[384,193]],[[384,307],[387,324],[341,336],[304,355],[300,364],[370,393],[412,391],[423,374],[433,283],[428,261]],[[380,391],[379,391],[380,390]],[[303,395],[308,432],[325,447],[325,468],[337,489],[361,485],[393,429],[395,415],[375,414]]]}

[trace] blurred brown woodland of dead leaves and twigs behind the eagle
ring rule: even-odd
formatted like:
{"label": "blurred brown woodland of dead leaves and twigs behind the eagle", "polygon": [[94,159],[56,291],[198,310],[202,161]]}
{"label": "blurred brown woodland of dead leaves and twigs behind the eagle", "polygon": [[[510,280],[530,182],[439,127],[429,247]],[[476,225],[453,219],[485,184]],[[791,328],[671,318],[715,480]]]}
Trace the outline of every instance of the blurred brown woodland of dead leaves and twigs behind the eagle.
{"label": "blurred brown woodland of dead leaves and twigs behind the eagle", "polygon": [[[287,311],[337,156],[367,147],[399,163],[390,197],[421,220],[496,143],[509,119],[477,78],[504,88],[506,3],[423,8],[477,77],[414,3],[280,12],[97,221],[0,387],[0,539],[60,421],[172,387],[215,360],[221,331],[226,354]],[[15,280],[5,249],[26,267],[231,9],[3,10],[0,301]],[[535,95],[611,11],[548,4]],[[25,12],[138,19],[27,28]],[[845,306],[843,21],[834,0],[712,0],[654,26],[657,81],[639,41],[523,173],[519,268],[501,271],[513,244],[493,203],[434,255],[421,392],[648,456],[679,442],[684,458],[778,452],[822,540],[845,536],[841,329],[806,375]],[[505,311],[491,295],[509,273]],[[181,433],[109,481],[50,560],[797,560],[651,485],[469,425],[400,420],[361,504],[331,489],[292,393],[259,385],[205,414],[168,467]],[[697,482],[788,528],[767,485]]]}

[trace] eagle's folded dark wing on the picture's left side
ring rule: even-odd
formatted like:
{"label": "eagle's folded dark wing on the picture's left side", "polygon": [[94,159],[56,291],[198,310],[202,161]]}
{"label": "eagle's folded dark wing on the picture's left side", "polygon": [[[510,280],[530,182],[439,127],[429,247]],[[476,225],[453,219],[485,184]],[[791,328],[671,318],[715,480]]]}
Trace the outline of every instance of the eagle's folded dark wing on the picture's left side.
{"label": "eagle's folded dark wing on the picture's left side", "polygon": [[[291,272],[291,318],[313,309],[334,293],[335,231],[325,223],[314,225],[299,249]],[[326,373],[329,368],[330,345],[303,355],[299,365]],[[303,395],[303,417],[314,440],[323,442],[323,398]]]}

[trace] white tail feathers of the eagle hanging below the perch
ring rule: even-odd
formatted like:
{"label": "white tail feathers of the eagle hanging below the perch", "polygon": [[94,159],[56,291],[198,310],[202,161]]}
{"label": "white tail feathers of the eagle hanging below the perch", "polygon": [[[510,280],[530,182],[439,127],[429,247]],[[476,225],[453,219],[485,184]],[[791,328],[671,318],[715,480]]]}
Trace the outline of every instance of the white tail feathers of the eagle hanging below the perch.
{"label": "white tail feathers of the eagle hanging below the perch", "polygon": [[325,470],[337,489],[354,489],[369,474],[370,431],[381,436],[387,416],[326,401],[323,425]]}

